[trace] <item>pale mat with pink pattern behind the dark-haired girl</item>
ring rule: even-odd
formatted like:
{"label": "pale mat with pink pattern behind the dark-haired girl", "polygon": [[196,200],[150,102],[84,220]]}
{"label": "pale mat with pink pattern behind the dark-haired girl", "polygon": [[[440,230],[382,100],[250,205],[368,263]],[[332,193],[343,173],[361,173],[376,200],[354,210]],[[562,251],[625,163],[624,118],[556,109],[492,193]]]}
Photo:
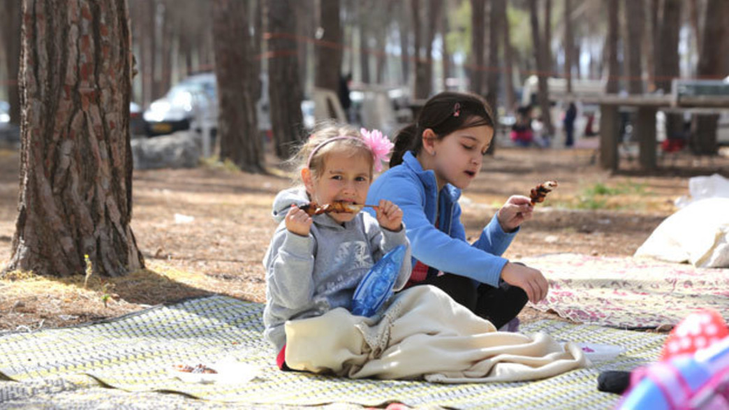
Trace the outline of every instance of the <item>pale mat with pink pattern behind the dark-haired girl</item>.
{"label": "pale mat with pink pattern behind the dark-haired girl", "polygon": [[729,318],[729,269],[577,254],[522,261],[550,281],[545,301],[531,306],[574,322],[656,328],[676,325],[699,308],[717,309]]}

